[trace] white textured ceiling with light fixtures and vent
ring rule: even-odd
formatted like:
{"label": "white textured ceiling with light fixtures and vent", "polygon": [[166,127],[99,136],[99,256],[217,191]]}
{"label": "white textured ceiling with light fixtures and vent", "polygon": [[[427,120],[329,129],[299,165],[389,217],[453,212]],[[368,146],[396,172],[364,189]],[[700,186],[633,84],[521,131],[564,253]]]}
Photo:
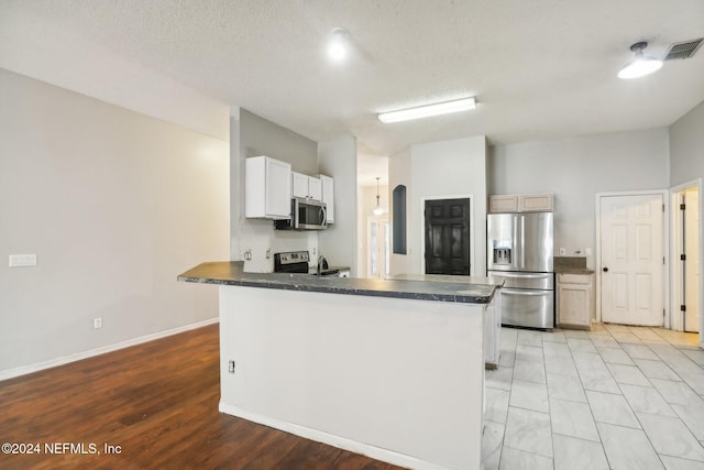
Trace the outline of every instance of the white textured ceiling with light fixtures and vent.
{"label": "white textured ceiling with light fixtures and vent", "polygon": [[[508,143],[669,125],[704,100],[702,51],[616,77],[637,41],[662,56],[704,36],[702,0],[2,0],[3,20],[35,29],[35,41],[51,25],[53,42],[98,44],[317,141],[354,135],[365,155],[476,134]],[[334,28],[354,42],[345,63],[324,54]],[[376,119],[463,96],[476,96],[476,111]]]}

